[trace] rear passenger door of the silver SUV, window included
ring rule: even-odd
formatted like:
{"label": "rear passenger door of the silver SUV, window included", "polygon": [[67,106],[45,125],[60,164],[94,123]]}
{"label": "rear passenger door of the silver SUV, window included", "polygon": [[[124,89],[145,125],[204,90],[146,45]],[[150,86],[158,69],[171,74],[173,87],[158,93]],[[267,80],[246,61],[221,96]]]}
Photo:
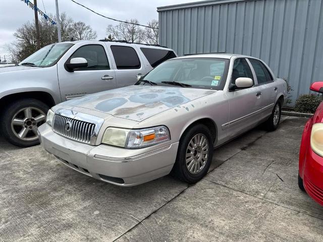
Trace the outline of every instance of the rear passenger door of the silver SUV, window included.
{"label": "rear passenger door of the silver SUV, window included", "polygon": [[116,66],[117,87],[133,85],[137,75],[146,74],[135,48],[127,45],[111,45],[110,48]]}

